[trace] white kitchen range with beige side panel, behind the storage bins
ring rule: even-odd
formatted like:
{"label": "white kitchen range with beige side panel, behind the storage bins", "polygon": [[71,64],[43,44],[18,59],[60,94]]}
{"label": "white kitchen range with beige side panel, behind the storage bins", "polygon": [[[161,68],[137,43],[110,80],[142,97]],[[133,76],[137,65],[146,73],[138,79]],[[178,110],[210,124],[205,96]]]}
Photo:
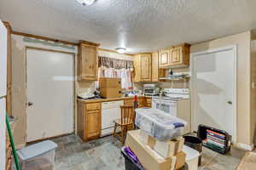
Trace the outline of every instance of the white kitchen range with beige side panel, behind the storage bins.
{"label": "white kitchen range with beige side panel, behind the storage bins", "polygon": [[152,108],[177,116],[188,123],[184,133],[191,132],[191,111],[188,88],[165,88],[164,96],[152,99]]}

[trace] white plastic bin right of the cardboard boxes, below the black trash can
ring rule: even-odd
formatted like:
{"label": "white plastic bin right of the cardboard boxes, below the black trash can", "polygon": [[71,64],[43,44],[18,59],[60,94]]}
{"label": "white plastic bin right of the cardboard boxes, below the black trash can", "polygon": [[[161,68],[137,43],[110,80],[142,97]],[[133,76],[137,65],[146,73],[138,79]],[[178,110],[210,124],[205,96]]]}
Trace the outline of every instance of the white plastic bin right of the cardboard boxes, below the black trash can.
{"label": "white plastic bin right of the cardboard boxes, below the black trash can", "polygon": [[186,154],[186,163],[188,164],[189,170],[197,170],[199,152],[190,148],[189,146],[183,146],[183,152]]}

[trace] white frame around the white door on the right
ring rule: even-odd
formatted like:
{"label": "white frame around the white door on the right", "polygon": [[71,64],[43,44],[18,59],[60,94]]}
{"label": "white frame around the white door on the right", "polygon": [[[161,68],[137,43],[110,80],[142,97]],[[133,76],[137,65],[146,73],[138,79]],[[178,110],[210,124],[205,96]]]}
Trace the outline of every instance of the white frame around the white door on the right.
{"label": "white frame around the white door on the right", "polygon": [[196,56],[199,56],[199,55],[202,55],[202,54],[212,54],[212,53],[217,53],[217,52],[221,52],[221,51],[227,51],[227,50],[232,50],[233,51],[233,56],[234,56],[234,89],[233,89],[233,94],[234,94],[234,99],[233,99],[233,122],[234,122],[234,125],[233,125],[233,129],[234,129],[234,135],[232,135],[232,142],[237,142],[237,82],[236,82],[236,79],[237,79],[237,75],[236,75],[236,72],[237,72],[237,45],[234,44],[234,45],[230,45],[230,46],[225,46],[225,47],[222,47],[222,48],[210,48],[210,49],[207,49],[207,50],[203,50],[203,51],[200,51],[200,52],[195,52],[195,53],[192,53],[190,54],[190,61],[191,61],[191,66],[190,66],[190,72],[191,72],[191,82],[190,82],[190,89],[191,89],[191,127],[193,127],[192,129],[197,129],[195,128],[195,92],[194,92],[194,83],[195,83],[195,75],[194,75],[194,59]]}

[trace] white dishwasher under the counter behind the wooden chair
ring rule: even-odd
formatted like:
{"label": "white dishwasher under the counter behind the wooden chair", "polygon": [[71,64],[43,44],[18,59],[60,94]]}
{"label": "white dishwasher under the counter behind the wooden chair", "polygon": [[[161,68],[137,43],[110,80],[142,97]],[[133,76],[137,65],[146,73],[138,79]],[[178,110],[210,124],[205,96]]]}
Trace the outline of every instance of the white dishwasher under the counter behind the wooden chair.
{"label": "white dishwasher under the counter behind the wooden chair", "polygon": [[102,102],[101,136],[106,136],[113,133],[113,121],[121,118],[120,105],[124,105],[123,100]]}

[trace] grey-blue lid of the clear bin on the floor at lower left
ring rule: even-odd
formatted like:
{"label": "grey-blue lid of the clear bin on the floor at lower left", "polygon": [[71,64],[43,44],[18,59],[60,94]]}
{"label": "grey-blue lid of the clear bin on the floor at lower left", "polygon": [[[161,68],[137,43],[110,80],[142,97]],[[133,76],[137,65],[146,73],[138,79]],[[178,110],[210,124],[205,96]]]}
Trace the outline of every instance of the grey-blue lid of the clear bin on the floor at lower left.
{"label": "grey-blue lid of the clear bin on the floor at lower left", "polygon": [[36,156],[43,155],[44,153],[49,152],[50,150],[55,150],[58,145],[51,140],[45,140],[38,144],[32,144],[21,150],[17,151],[18,156],[22,161],[32,159]]}

